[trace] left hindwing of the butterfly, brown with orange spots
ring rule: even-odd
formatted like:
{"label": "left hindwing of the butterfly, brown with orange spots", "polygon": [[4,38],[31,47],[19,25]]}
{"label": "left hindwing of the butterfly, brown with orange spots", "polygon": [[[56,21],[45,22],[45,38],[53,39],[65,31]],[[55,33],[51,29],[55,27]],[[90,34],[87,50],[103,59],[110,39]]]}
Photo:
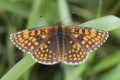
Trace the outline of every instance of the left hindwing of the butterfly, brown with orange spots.
{"label": "left hindwing of the butterfly, brown with orange spots", "polygon": [[56,64],[59,62],[58,47],[56,35],[51,36],[44,41],[32,54],[33,58],[42,64]]}

